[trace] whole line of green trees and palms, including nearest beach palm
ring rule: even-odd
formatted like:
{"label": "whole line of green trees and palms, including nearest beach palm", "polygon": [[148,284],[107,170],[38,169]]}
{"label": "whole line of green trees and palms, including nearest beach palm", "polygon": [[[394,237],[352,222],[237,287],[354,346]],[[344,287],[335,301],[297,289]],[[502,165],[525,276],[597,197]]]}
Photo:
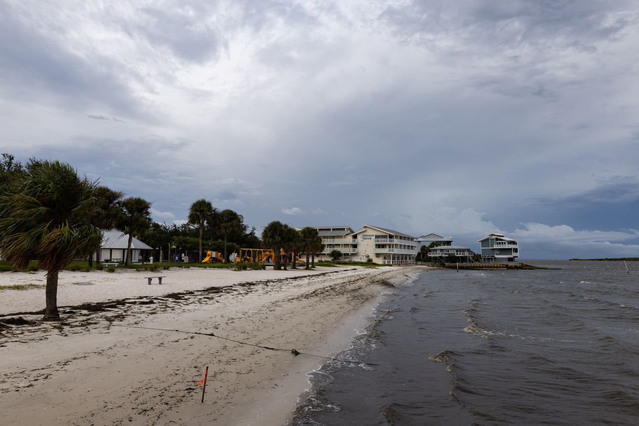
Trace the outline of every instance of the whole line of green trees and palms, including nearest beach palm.
{"label": "whole line of green trees and palms, including nearest beach palm", "polygon": [[[100,185],[97,180],[81,176],[70,164],[60,161],[29,159],[25,164],[11,154],[0,158],[0,253],[4,260],[20,270],[31,260],[47,271],[45,320],[59,319],[58,276],[73,260],[100,262],[104,229],[128,234],[125,264],[131,262],[134,236],[145,239],[151,247],[178,244],[185,250],[197,246],[199,260],[203,248],[229,252],[240,247],[272,249],[275,269],[281,269],[280,250],[293,253],[293,268],[298,253],[309,256],[322,249],[315,228],[295,230],[279,221],[269,223],[262,240],[255,228],[245,225],[243,216],[218,210],[208,200],[197,200],[189,209],[189,221],[183,225],[154,223],[151,201],[130,196]],[[197,245],[196,245],[197,242]],[[284,256],[287,269],[289,256]]]}

